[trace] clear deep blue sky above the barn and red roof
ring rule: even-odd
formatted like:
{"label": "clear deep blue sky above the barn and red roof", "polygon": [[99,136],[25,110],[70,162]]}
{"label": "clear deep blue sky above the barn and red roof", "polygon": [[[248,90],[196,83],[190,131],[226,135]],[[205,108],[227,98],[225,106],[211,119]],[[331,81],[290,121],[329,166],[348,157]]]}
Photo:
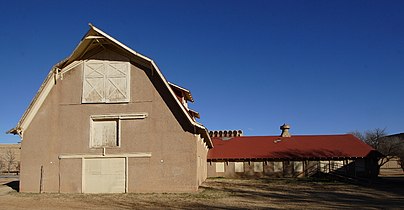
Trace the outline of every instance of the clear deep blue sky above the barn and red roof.
{"label": "clear deep blue sky above the barn and red roof", "polygon": [[191,90],[210,130],[404,132],[404,1],[7,1],[0,143],[91,22]]}

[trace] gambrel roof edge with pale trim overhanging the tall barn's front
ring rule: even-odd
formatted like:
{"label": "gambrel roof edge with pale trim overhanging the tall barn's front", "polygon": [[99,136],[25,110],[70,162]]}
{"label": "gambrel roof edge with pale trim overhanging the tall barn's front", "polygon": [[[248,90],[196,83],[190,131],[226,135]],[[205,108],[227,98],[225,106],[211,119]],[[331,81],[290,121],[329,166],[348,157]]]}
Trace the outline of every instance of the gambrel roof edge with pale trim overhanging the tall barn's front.
{"label": "gambrel roof edge with pale trim overhanging the tall barn's front", "polygon": [[[32,119],[38,112],[46,96],[49,94],[53,86],[56,84],[57,80],[63,77],[63,73],[79,65],[80,63],[78,63],[77,61],[80,60],[86,53],[91,53],[93,50],[96,50],[96,48],[99,48],[99,46],[104,47],[104,45],[112,45],[115,48],[125,52],[125,56],[128,57],[131,62],[147,67],[148,69],[150,69],[150,71],[152,71],[153,74],[156,74],[163,81],[164,88],[166,88],[169,91],[170,95],[175,99],[178,105],[177,108],[182,110],[182,113],[184,114],[184,116],[188,121],[187,123],[193,126],[194,128],[193,132],[195,134],[200,134],[201,137],[204,138],[205,143],[208,145],[209,148],[213,147],[207,129],[202,124],[195,122],[191,118],[191,116],[188,113],[188,110],[186,110],[186,108],[177,99],[172,89],[172,84],[170,85],[170,83],[168,83],[168,81],[163,76],[160,69],[152,59],[132,50],[131,48],[122,44],[118,40],[114,39],[113,37],[103,32],[102,30],[93,26],[92,24],[89,24],[89,26],[90,30],[84,35],[84,37],[81,39],[80,43],[77,45],[72,54],[52,67],[48,76],[42,83],[41,87],[36,93],[34,99],[31,101],[27,110],[25,110],[25,113],[19,120],[16,127],[10,129],[7,133],[18,134],[23,138],[24,130],[28,128]],[[191,97],[190,100],[193,101],[192,96],[190,97]]]}

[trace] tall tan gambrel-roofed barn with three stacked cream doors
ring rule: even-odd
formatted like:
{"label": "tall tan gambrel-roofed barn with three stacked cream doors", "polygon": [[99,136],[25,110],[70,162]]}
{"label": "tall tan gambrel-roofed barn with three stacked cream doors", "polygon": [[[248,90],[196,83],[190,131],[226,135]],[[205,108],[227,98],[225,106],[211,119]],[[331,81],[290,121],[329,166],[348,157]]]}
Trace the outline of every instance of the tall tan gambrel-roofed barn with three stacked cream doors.
{"label": "tall tan gambrel-roofed barn with three stacked cream doors", "polygon": [[21,192],[196,191],[207,129],[191,92],[90,24],[9,133],[21,136]]}

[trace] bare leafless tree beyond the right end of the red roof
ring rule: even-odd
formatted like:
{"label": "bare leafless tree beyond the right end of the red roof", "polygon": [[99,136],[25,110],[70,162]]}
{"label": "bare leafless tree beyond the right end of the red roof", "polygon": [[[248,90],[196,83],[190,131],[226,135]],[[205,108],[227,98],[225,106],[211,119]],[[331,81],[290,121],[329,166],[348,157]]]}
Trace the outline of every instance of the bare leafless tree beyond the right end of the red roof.
{"label": "bare leafless tree beyond the right end of the red roof", "polygon": [[385,129],[375,128],[363,133],[353,131],[351,134],[384,155],[379,160],[379,167],[386,164],[394,157],[399,157],[401,160],[404,160],[404,141],[398,137],[387,136]]}

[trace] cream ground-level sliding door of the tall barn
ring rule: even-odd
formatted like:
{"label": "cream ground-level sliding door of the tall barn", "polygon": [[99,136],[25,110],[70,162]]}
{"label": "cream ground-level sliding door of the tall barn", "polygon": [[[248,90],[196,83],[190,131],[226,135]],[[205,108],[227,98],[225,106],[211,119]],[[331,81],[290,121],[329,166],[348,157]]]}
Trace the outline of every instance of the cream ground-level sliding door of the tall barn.
{"label": "cream ground-level sliding door of the tall barn", "polygon": [[125,158],[84,160],[84,193],[124,193]]}

